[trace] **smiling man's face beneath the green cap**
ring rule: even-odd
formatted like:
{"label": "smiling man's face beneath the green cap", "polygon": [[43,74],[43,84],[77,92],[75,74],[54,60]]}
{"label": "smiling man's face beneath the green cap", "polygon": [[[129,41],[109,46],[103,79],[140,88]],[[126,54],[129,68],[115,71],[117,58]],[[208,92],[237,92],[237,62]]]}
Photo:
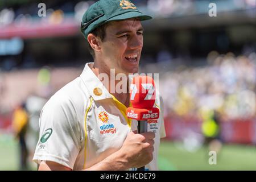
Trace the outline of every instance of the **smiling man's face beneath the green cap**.
{"label": "smiling man's face beneath the green cap", "polygon": [[101,66],[108,72],[137,73],[143,47],[143,30],[139,20],[110,22],[101,42]]}

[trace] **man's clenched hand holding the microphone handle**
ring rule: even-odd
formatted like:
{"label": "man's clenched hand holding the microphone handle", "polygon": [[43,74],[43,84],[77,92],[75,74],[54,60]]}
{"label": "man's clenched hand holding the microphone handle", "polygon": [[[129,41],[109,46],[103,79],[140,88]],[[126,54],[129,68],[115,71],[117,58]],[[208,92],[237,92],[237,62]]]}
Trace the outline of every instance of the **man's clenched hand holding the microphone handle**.
{"label": "man's clenched hand holding the microphone handle", "polygon": [[153,159],[154,138],[155,133],[153,132],[142,134],[130,132],[127,135],[123,146],[118,152],[126,160],[129,168],[139,168],[151,162]]}

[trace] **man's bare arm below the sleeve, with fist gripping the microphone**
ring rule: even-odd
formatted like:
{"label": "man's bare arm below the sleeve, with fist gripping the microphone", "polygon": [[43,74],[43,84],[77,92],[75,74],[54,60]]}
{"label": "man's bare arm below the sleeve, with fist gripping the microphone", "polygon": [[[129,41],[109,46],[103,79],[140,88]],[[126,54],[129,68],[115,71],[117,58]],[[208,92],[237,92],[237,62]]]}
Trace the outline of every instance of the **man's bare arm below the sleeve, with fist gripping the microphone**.
{"label": "man's bare arm below the sleeve, with fist gripping the microphone", "polygon": [[[130,132],[123,146],[106,159],[85,170],[126,170],[139,168],[150,163],[153,159],[155,133],[137,134]],[[71,170],[55,162],[41,162],[39,170]]]}

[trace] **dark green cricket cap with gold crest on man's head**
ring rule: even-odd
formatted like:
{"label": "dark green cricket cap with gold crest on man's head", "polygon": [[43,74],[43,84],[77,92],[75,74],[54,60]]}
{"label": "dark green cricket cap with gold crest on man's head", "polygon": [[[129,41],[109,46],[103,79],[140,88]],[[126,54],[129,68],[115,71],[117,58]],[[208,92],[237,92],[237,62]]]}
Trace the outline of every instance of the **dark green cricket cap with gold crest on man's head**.
{"label": "dark green cricket cap with gold crest on man's head", "polygon": [[102,24],[129,18],[138,18],[141,21],[152,19],[129,0],[100,0],[90,6],[82,16],[81,32],[87,40],[88,34]]}

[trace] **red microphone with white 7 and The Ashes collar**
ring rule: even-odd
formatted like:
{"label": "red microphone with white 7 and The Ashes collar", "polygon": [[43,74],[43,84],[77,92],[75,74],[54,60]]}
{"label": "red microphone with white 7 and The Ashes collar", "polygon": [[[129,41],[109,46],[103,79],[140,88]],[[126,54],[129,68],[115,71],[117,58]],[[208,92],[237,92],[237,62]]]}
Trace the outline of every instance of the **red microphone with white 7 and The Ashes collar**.
{"label": "red microphone with white 7 and The Ashes collar", "polygon": [[[130,85],[130,101],[132,107],[126,110],[127,118],[138,121],[138,133],[147,132],[147,120],[158,119],[159,109],[155,104],[155,82],[149,76],[136,76]],[[138,168],[144,171],[145,167]]]}

